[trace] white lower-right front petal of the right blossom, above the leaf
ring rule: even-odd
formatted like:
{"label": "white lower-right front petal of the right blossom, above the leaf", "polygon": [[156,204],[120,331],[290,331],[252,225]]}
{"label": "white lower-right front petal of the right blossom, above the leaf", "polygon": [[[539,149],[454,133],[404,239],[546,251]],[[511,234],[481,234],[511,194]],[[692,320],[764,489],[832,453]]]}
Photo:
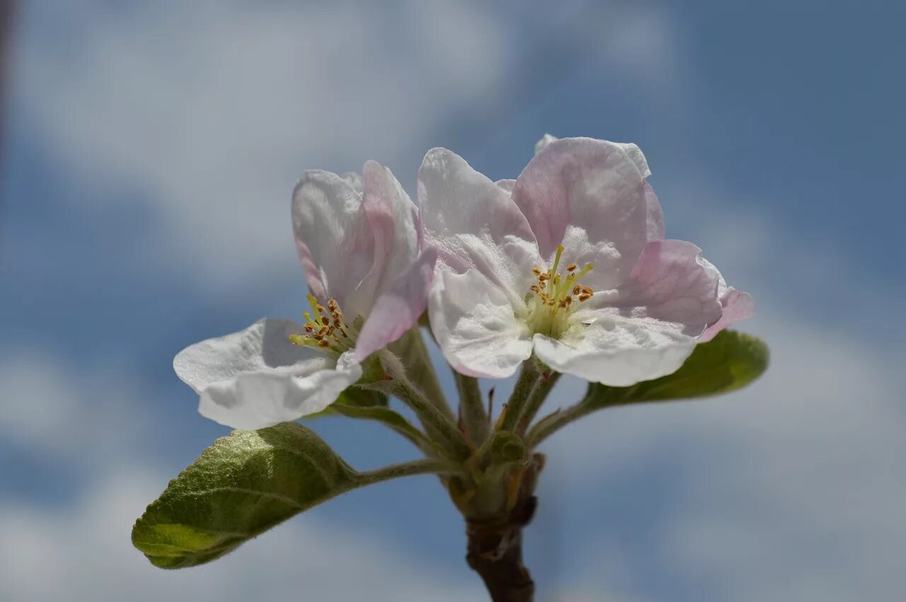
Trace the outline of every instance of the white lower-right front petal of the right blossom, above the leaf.
{"label": "white lower-right front petal of the right blossom, above the leaf", "polygon": [[557,372],[611,387],[629,387],[675,372],[696,339],[657,321],[603,315],[562,339],[535,335],[535,354]]}

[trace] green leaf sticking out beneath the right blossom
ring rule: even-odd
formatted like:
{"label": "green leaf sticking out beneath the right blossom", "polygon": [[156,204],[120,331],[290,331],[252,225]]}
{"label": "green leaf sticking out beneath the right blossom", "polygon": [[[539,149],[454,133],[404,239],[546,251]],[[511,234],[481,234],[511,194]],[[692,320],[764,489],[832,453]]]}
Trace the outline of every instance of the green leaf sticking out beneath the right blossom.
{"label": "green leaf sticking out beneath the right blossom", "polygon": [[631,387],[592,385],[583,403],[594,408],[670,399],[723,395],[746,387],[767,368],[767,346],[761,339],[723,330],[701,343],[673,374]]}

